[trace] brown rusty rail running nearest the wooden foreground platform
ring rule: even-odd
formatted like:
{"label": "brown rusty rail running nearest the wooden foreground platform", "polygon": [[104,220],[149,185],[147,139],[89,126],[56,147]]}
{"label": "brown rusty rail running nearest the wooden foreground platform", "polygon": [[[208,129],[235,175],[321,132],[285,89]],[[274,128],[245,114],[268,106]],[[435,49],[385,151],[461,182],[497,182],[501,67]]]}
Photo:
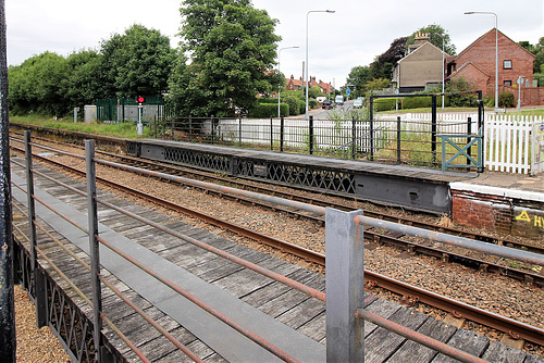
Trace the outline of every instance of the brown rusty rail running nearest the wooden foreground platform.
{"label": "brown rusty rail running nearest the wooden foreground platform", "polygon": [[[13,147],[13,148],[17,151],[22,151],[18,148],[15,148],[15,147]],[[46,157],[36,155],[36,158],[38,158],[47,163],[51,163],[58,167],[69,170],[71,173],[75,173],[78,175],[85,174],[84,172],[82,172],[77,168],[57,163],[57,162],[54,162]],[[244,228],[240,226],[233,225],[226,221],[221,221],[221,220],[211,217],[209,215],[205,215],[200,212],[189,210],[187,208],[184,208],[182,205],[177,205],[177,204],[172,203],[172,202],[164,200],[164,199],[156,198],[153,196],[150,196],[147,192],[134,190],[133,188],[113,183],[111,180],[99,178],[98,182],[102,183],[104,185],[108,185],[109,187],[122,190],[123,192],[127,192],[127,193],[131,193],[131,195],[136,196],[138,198],[143,198],[143,199],[145,199],[149,202],[152,202],[154,204],[159,204],[163,208],[168,208],[170,210],[174,210],[174,211],[177,211],[177,212],[181,212],[184,214],[191,215],[194,217],[198,217],[198,218],[203,220],[207,223],[210,223],[210,224],[215,225],[218,227],[228,229],[228,230],[234,231],[236,234],[239,234],[242,236],[245,236],[245,237],[251,238],[254,240],[257,240],[259,242],[265,243],[268,246],[277,248],[284,252],[290,253],[290,254],[296,255],[296,256],[304,259],[306,261],[324,266],[325,256],[323,254],[310,251],[308,249],[300,248],[296,245],[288,243],[288,242],[269,237],[269,236],[264,236],[262,234],[258,234],[256,231],[252,231],[250,229],[247,229],[247,228]],[[366,234],[368,234],[368,231]],[[442,258],[444,258],[444,255],[442,255]],[[504,317],[504,316],[500,316],[500,315],[471,306],[469,304],[465,304],[465,303],[448,299],[446,297],[443,297],[443,296],[440,296],[440,295],[436,295],[436,293],[433,293],[433,292],[430,292],[430,291],[426,291],[423,289],[419,289],[419,288],[413,287],[411,285],[401,283],[401,281],[396,280],[396,279],[385,277],[385,276],[380,275],[380,274],[372,273],[370,271],[364,271],[364,274],[367,276],[366,277],[366,280],[368,284],[367,287],[369,287],[369,288],[373,288],[373,287],[384,288],[388,291],[392,291],[392,292],[395,292],[395,293],[398,293],[398,295],[405,297],[407,301],[425,303],[425,304],[429,304],[431,306],[449,312],[449,313],[454,314],[455,316],[462,316],[462,317],[466,317],[467,320],[473,321],[475,323],[480,323],[482,325],[495,328],[497,330],[500,330],[500,331],[504,331],[504,333],[507,333],[507,334],[510,334],[514,336],[518,336],[522,339],[532,341],[536,345],[544,346],[544,330],[542,330],[540,328],[536,328],[536,327],[517,322],[515,320]]]}

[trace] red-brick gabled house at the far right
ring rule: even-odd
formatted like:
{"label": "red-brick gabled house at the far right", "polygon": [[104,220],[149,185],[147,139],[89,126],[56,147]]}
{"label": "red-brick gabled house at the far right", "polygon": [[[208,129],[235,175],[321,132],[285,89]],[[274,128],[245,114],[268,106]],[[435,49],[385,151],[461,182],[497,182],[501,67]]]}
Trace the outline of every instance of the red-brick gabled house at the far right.
{"label": "red-brick gabled house at the far right", "polygon": [[[517,80],[523,77],[521,105],[544,104],[544,88],[533,87],[533,63],[536,58],[497,30],[498,91],[518,99]],[[447,79],[463,77],[484,96],[495,95],[495,28],[489,30],[457,55],[448,57]]]}

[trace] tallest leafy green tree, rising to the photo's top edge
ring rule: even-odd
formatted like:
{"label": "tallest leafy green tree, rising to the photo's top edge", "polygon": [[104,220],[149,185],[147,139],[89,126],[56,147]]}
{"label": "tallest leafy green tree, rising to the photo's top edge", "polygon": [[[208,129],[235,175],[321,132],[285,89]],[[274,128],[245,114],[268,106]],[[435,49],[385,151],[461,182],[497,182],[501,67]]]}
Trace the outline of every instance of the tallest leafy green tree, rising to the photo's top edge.
{"label": "tallest leafy green tree, rising to the photo's top edge", "polygon": [[249,0],[184,0],[182,51],[190,54],[201,110],[219,116],[249,110],[258,93],[277,88],[276,20]]}

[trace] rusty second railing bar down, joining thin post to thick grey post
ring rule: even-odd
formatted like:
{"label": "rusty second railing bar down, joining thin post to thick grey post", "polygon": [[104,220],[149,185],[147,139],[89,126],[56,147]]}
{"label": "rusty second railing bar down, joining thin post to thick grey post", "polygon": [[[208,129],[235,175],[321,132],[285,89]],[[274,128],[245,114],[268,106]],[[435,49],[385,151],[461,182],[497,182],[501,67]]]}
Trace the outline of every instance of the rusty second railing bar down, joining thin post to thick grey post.
{"label": "rusty second railing bar down, joining thin post to thick grey post", "polygon": [[236,263],[236,264],[238,264],[240,266],[244,266],[244,267],[249,268],[249,270],[251,270],[251,271],[254,271],[256,273],[259,273],[259,274],[261,274],[263,276],[272,278],[272,279],[274,279],[274,280],[276,280],[276,281],[281,283],[281,284],[284,284],[284,285],[286,285],[286,286],[288,286],[288,287],[290,287],[290,288],[293,288],[293,289],[295,289],[297,291],[306,293],[306,295],[308,295],[308,296],[310,296],[312,298],[319,299],[321,301],[326,301],[326,295],[323,291],[320,291],[320,290],[313,289],[311,287],[308,287],[308,286],[306,286],[304,284],[300,284],[300,283],[298,283],[298,281],[296,281],[296,280],[294,280],[292,278],[285,277],[285,276],[283,276],[281,274],[272,272],[272,271],[270,271],[268,268],[261,267],[258,264],[255,264],[252,262],[249,262],[249,261],[246,261],[244,259],[240,259],[237,255],[234,255],[232,253],[225,252],[225,251],[223,251],[221,249],[218,249],[218,248],[215,248],[213,246],[210,246],[208,243],[199,241],[198,239],[191,238],[189,236],[183,235],[183,234],[181,234],[178,231],[175,231],[173,229],[164,227],[164,226],[162,226],[162,225],[160,225],[158,223],[154,223],[152,221],[144,218],[144,217],[141,217],[141,216],[135,214],[135,213],[125,211],[125,210],[123,210],[123,209],[121,209],[121,208],[119,208],[116,205],[113,205],[113,204],[111,204],[109,202],[101,201],[101,200],[97,200],[97,201],[100,204],[102,204],[102,205],[111,208],[111,209],[113,209],[113,210],[115,210],[115,211],[118,211],[120,213],[123,213],[123,214],[125,214],[125,215],[127,215],[127,216],[129,216],[132,218],[140,221],[140,222],[143,222],[145,224],[148,224],[148,225],[150,225],[150,226],[152,226],[152,227],[154,227],[154,228],[157,228],[159,230],[162,230],[162,231],[164,231],[164,233],[166,233],[166,234],[169,234],[171,236],[174,236],[174,237],[177,237],[180,239],[183,239],[186,242],[195,245],[195,246],[197,246],[197,247],[199,247],[199,248],[201,248],[201,249],[203,249],[203,250],[206,250],[208,252],[214,253],[214,254],[217,254],[217,255],[219,255],[219,256],[221,256],[221,258],[223,258],[225,260],[228,260],[228,261],[234,262],[234,263]]}

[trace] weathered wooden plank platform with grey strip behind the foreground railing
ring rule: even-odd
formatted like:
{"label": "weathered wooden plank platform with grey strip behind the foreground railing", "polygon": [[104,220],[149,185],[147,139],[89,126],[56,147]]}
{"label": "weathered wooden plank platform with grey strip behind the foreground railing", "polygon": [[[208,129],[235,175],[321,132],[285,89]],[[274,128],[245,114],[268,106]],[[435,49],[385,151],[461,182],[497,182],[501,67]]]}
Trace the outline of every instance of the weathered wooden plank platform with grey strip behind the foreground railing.
{"label": "weathered wooden plank platform with grey strip behind the foreground railing", "polygon": [[[35,167],[44,174],[55,175],[54,172],[39,166]],[[62,177],[63,183],[77,189],[85,186],[76,180]],[[24,171],[12,166],[12,182],[25,188]],[[12,188],[14,202],[26,205],[27,196],[17,188]],[[64,188],[59,188],[48,180],[36,183],[36,198],[63,211],[72,221],[85,225],[85,198],[66,196]],[[235,252],[245,259],[268,266],[284,275],[292,276],[317,289],[324,290],[325,281],[322,275],[306,271],[297,265],[277,260],[269,254],[250,250],[212,233],[201,230],[154,211],[135,205],[128,201],[118,200],[113,196],[100,192],[101,199],[118,203],[138,215],[148,215],[153,221],[175,228],[199,240],[206,240],[218,248]],[[323,302],[310,299],[301,293],[288,291],[284,286],[273,283],[260,275],[247,271],[211,253],[187,246],[177,239],[161,235],[137,221],[128,221],[126,216],[112,211],[99,211],[101,216],[99,230],[103,238],[160,272],[178,286],[187,289],[211,304],[214,309],[235,318],[251,331],[260,335],[271,343],[281,348],[301,362],[326,361],[325,305]],[[45,206],[37,205],[38,218],[51,228],[51,234],[59,235],[66,243],[76,248],[77,254],[89,253],[88,236],[74,227],[66,220],[52,213]],[[39,241],[46,249],[51,243],[50,238]],[[169,329],[184,337],[189,348],[193,348],[206,361],[214,362],[275,362],[279,359],[260,346],[233,330],[225,324],[200,311],[176,292],[160,286],[152,277],[145,276],[134,265],[101,247],[101,264],[118,286],[129,290],[139,304],[147,306],[158,321],[168,325]],[[51,258],[55,256],[52,252]],[[65,258],[61,258],[65,260]],[[72,262],[73,264],[73,262]],[[48,264],[44,268],[57,276]],[[88,281],[79,276],[81,272],[67,263],[67,273],[74,279],[79,279],[83,288],[88,290]],[[87,284],[87,285],[86,285]],[[60,284],[62,285],[62,284]],[[88,305],[74,298],[71,287],[64,286],[66,296],[71,296],[81,310],[89,313]],[[489,362],[536,363],[543,360],[522,351],[490,341],[472,331],[458,329],[442,321],[415,312],[412,309],[392,303],[368,295],[366,308],[408,328],[431,336],[481,356]],[[103,313],[110,316],[122,328],[127,338],[134,341],[152,362],[186,361],[187,358],[174,347],[169,347],[163,337],[151,333],[136,314],[129,314],[121,306],[121,302],[108,296],[103,304]],[[126,360],[135,360],[134,353],[111,331],[106,329],[110,345]],[[396,336],[374,324],[364,324],[366,361],[367,362],[452,362],[453,360]]]}

